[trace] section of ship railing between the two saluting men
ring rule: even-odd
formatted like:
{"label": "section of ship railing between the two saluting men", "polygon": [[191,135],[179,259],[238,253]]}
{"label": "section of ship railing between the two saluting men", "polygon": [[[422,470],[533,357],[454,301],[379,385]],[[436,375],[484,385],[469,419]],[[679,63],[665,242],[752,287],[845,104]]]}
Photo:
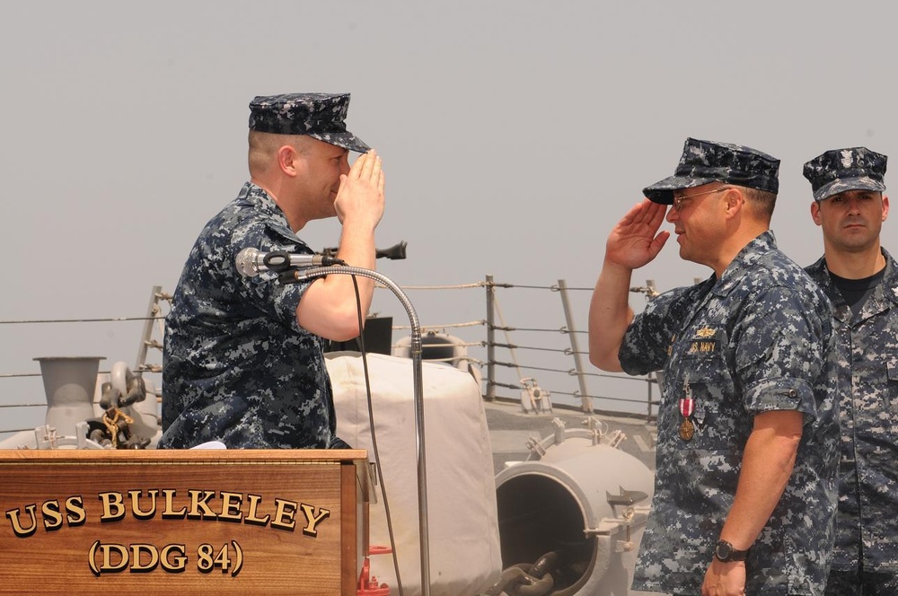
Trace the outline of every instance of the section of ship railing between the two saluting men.
{"label": "section of ship railing between the two saluting men", "polygon": [[[468,339],[461,345],[469,348],[466,357],[485,371],[484,399],[516,402],[522,399],[521,392],[528,390],[522,380],[539,379],[540,387],[556,397],[553,406],[578,409],[586,414],[635,417],[647,423],[655,421],[660,394],[655,373],[638,376],[602,373],[589,364],[588,352],[580,348],[580,340],[586,341],[588,333],[585,330],[586,315],[593,287],[569,286],[563,279],[550,285],[500,283],[492,276],[469,284],[401,287],[413,302],[418,291],[485,292],[484,319],[438,325],[422,323],[426,333],[451,332]],[[646,286],[633,287],[630,291],[645,294],[649,299],[657,295],[651,280]],[[453,305],[477,303],[476,299],[462,301],[454,298],[450,302]],[[541,326],[509,325],[503,307],[513,313],[508,319],[540,320]],[[533,315],[534,311],[539,312],[538,317]],[[551,321],[558,325],[550,327]],[[482,331],[472,328],[482,328]],[[394,326],[393,329],[409,328]],[[482,337],[480,340],[475,338],[478,333]],[[524,352],[528,359],[519,359],[519,352]],[[424,357],[428,359],[427,345],[424,346]],[[513,390],[517,394],[509,395],[504,390]]]}

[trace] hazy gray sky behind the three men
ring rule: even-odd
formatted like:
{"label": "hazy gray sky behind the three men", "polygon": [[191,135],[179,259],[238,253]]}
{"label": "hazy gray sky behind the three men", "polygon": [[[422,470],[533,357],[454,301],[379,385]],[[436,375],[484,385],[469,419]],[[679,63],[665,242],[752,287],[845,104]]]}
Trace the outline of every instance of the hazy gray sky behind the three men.
{"label": "hazy gray sky behind the three men", "polygon": [[[849,145],[898,155],[895,12],[831,0],[4,4],[0,320],[139,316],[153,285],[172,291],[202,225],[247,179],[249,102],[280,92],[352,93],[348,125],[387,173],[378,245],[409,242],[408,259],[379,263],[400,285],[593,285],[611,226],[673,172],[686,136],[782,160],[773,229],[808,264],[821,249],[802,163]],[[884,243],[898,252],[894,230]],[[335,221],[300,233],[319,249],[338,234]],[[634,281],[666,289],[708,272],[672,241]],[[480,293],[409,295],[424,324],[484,316]],[[510,324],[542,310],[502,300]],[[585,326],[588,294],[577,300]],[[386,292],[374,310],[404,322]],[[42,355],[133,362],[139,329],[0,326],[0,372],[36,372]]]}

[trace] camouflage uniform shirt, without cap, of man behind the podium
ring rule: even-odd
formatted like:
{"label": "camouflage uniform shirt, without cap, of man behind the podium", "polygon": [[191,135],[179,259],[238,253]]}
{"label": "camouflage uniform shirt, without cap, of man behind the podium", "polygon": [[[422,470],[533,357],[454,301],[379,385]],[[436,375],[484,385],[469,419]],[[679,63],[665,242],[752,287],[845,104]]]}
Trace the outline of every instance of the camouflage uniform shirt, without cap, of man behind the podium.
{"label": "camouflage uniform shirt, without cap, of man behind the podium", "polygon": [[246,277],[246,247],[312,254],[262,189],[247,182],[200,233],[166,319],[162,448],[326,448],[334,437],[321,337],[296,307],[310,282]]}

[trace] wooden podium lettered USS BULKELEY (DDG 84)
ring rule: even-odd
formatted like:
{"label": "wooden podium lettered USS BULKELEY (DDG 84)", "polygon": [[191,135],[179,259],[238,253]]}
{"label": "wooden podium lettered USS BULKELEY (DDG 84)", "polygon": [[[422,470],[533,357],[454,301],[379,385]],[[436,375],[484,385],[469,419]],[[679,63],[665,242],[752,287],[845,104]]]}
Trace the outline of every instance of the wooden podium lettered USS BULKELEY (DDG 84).
{"label": "wooden podium lettered USS BULKELEY (DDG 84)", "polygon": [[364,450],[0,450],[0,593],[356,594]]}

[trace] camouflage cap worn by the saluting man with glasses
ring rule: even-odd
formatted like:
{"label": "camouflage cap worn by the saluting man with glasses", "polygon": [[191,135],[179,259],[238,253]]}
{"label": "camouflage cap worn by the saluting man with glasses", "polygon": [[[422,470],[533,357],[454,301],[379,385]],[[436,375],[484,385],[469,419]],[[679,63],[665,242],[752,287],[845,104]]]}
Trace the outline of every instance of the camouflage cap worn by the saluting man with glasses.
{"label": "camouflage cap worn by the saluting man with glasses", "polygon": [[751,147],[687,138],[674,175],[643,188],[646,197],[674,204],[674,190],[726,182],[777,194],[779,160]]}

